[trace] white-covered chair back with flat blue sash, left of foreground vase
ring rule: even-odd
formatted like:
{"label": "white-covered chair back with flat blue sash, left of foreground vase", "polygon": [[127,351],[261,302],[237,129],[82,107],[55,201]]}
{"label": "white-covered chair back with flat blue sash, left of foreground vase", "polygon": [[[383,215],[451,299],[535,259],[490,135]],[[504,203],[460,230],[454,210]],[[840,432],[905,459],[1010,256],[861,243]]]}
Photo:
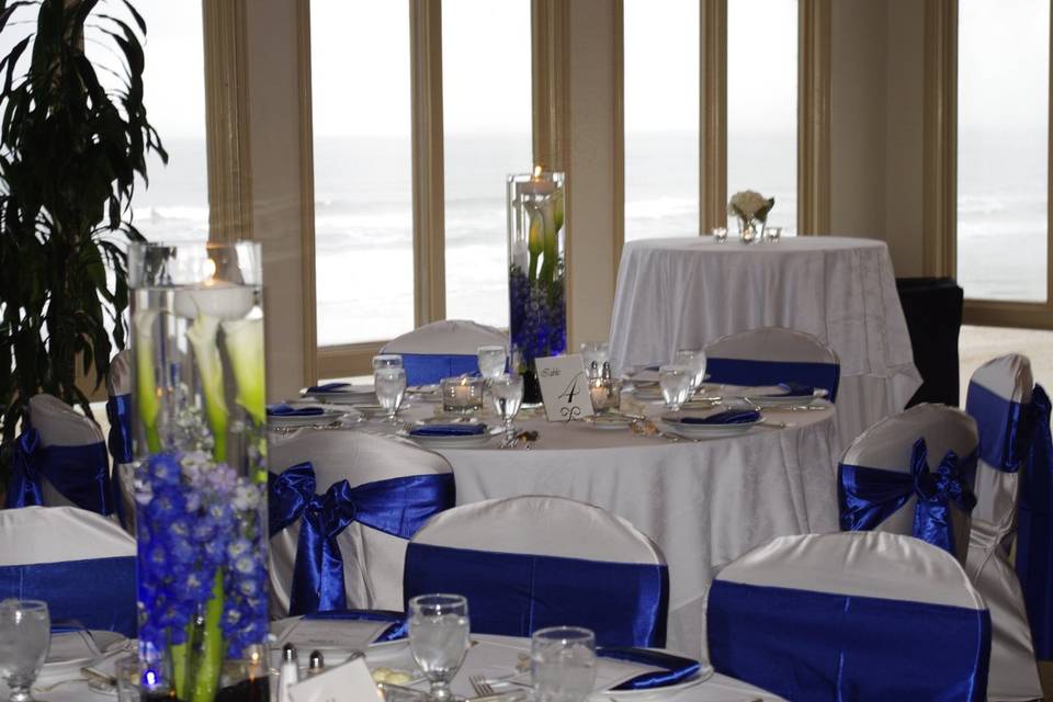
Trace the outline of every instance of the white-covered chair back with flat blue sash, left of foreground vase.
{"label": "white-covered chair back with flat blue sash, left of foreground vase", "polygon": [[0,510],[0,600],[43,599],[52,621],[136,631],[135,540],[75,507]]}

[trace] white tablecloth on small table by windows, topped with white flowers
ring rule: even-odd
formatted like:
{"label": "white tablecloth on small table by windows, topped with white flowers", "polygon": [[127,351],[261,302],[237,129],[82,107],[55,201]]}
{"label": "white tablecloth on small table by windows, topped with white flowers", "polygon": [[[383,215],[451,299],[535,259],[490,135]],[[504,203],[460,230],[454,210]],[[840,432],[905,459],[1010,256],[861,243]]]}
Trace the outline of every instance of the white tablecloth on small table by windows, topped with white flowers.
{"label": "white tablecloth on small table by windows, topped with white flowers", "polygon": [[669,361],[759,327],[808,332],[839,356],[839,445],[901,411],[921,385],[884,241],[790,237],[744,246],[681,237],[622,252],[611,319],[620,367]]}

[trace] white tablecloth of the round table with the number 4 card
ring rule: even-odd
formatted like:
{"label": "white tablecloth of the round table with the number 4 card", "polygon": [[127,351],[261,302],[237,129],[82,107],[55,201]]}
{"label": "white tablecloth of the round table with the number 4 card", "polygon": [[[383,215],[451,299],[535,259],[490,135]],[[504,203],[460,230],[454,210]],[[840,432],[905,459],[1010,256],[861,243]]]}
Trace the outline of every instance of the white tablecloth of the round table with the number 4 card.
{"label": "white tablecloth of the round table with the number 4 card", "polygon": [[[417,404],[406,418],[431,414]],[[660,406],[646,406],[648,415]],[[457,503],[556,495],[627,519],[661,548],[669,565],[669,648],[702,653],[703,599],[716,568],[775,536],[838,530],[834,407],[765,410],[785,428],[704,441],[601,430],[521,412],[535,430],[531,449],[443,449]],[[487,421],[494,421],[487,419]],[[366,424],[366,430],[375,426]],[[573,539],[574,534],[568,534]]]}

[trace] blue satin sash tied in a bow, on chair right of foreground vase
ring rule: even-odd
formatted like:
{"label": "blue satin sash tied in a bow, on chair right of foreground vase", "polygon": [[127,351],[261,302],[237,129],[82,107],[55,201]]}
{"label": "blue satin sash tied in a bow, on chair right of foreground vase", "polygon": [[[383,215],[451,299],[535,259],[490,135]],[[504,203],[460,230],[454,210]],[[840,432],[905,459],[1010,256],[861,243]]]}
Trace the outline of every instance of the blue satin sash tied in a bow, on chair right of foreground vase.
{"label": "blue satin sash tied in a bow, on chair right of foreground vase", "polygon": [[315,494],[315,469],[301,463],[269,476],[273,536],[297,519],[299,541],[290,597],[291,615],[347,608],[343,556],[337,536],[351,522],[409,539],[426,521],[454,505],[452,473],[410,475],[352,488],[333,483]]}

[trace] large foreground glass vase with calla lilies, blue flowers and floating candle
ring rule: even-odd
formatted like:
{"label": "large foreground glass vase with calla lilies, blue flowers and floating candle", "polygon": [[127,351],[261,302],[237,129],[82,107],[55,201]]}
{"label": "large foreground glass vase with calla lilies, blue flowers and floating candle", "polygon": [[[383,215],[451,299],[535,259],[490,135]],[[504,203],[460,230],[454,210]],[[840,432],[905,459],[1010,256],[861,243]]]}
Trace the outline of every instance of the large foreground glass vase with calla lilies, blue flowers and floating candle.
{"label": "large foreground glass vase with calla lilies, blue flowers and floating candle", "polygon": [[268,700],[260,248],[128,253],[143,699]]}

